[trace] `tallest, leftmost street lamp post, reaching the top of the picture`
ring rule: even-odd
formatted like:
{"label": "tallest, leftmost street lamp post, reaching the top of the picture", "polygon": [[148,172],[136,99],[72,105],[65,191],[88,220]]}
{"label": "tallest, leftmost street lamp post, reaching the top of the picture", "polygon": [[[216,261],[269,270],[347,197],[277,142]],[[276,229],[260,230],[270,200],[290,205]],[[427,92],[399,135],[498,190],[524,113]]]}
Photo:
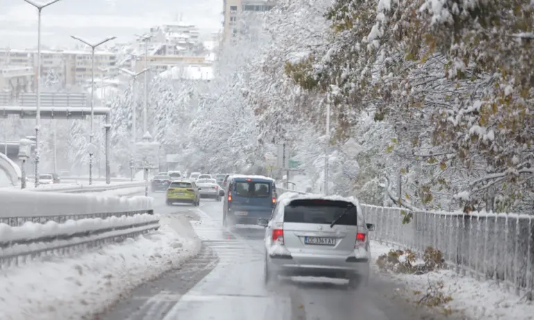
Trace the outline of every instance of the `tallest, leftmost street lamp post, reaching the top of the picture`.
{"label": "tallest, leftmost street lamp post, reaching the top of the picture", "polygon": [[37,3],[33,0],[24,1],[37,8],[37,110],[35,110],[35,187],[37,187],[39,186],[39,130],[41,126],[41,11],[60,0],[44,3]]}

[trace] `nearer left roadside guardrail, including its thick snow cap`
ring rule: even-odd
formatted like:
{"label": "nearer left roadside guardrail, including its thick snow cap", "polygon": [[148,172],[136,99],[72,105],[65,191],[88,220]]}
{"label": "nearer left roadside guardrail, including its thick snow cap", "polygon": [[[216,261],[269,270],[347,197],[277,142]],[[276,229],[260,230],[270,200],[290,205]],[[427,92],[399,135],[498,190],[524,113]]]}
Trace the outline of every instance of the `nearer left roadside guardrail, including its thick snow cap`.
{"label": "nearer left roadside guardrail, including its thick snow cap", "polygon": [[28,259],[64,254],[76,247],[98,247],[107,242],[133,238],[160,227],[157,215],[136,214],[106,219],[92,218],[26,222],[21,226],[0,224],[0,269],[25,263]]}

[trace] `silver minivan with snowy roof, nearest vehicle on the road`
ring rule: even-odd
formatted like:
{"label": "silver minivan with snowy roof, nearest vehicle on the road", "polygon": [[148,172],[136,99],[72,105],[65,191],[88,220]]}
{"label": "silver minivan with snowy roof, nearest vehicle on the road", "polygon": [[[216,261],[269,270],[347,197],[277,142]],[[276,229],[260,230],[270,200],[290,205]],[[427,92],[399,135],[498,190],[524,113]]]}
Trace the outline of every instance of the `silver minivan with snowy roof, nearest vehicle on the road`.
{"label": "silver minivan with snowy roof, nearest vehicle on the road", "polygon": [[349,286],[369,280],[369,231],[358,202],[343,197],[285,193],[265,231],[265,282],[277,276],[347,278]]}

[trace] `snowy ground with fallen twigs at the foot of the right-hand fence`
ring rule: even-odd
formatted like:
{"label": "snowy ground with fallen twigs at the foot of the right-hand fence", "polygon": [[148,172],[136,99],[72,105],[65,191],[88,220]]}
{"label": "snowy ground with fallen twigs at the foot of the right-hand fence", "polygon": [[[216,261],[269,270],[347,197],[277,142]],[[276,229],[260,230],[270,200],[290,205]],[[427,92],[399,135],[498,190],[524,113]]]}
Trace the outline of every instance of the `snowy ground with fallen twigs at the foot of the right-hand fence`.
{"label": "snowy ground with fallen twigs at the foot of the right-hand fence", "polygon": [[[375,273],[379,273],[374,263],[379,256],[387,254],[393,247],[381,245],[379,242],[371,242],[372,267]],[[397,249],[397,248],[395,248]],[[508,292],[499,287],[494,281],[476,281],[470,276],[461,276],[454,270],[440,270],[421,276],[412,274],[384,274],[388,278],[415,291],[427,292],[429,281],[436,283],[442,281],[445,284],[443,292],[451,296],[446,307],[453,312],[463,314],[467,319],[499,319],[499,320],[526,320],[534,319],[534,304],[528,303],[522,297]],[[416,296],[413,295],[413,300]]]}

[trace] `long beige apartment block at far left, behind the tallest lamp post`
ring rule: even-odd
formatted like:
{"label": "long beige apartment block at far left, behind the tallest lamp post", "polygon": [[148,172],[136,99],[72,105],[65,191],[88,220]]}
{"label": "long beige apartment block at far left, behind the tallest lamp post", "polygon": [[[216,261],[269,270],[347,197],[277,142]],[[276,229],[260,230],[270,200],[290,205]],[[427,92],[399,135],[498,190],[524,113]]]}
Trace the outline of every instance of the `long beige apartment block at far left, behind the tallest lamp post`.
{"label": "long beige apartment block at far left, behind the tallest lamp post", "polygon": [[[41,51],[41,75],[53,73],[62,87],[82,87],[92,76],[92,53],[89,51]],[[117,54],[107,51],[95,52],[95,78],[107,75],[117,62]],[[37,81],[37,51],[0,48],[0,66],[26,66],[33,68],[33,81]]]}

